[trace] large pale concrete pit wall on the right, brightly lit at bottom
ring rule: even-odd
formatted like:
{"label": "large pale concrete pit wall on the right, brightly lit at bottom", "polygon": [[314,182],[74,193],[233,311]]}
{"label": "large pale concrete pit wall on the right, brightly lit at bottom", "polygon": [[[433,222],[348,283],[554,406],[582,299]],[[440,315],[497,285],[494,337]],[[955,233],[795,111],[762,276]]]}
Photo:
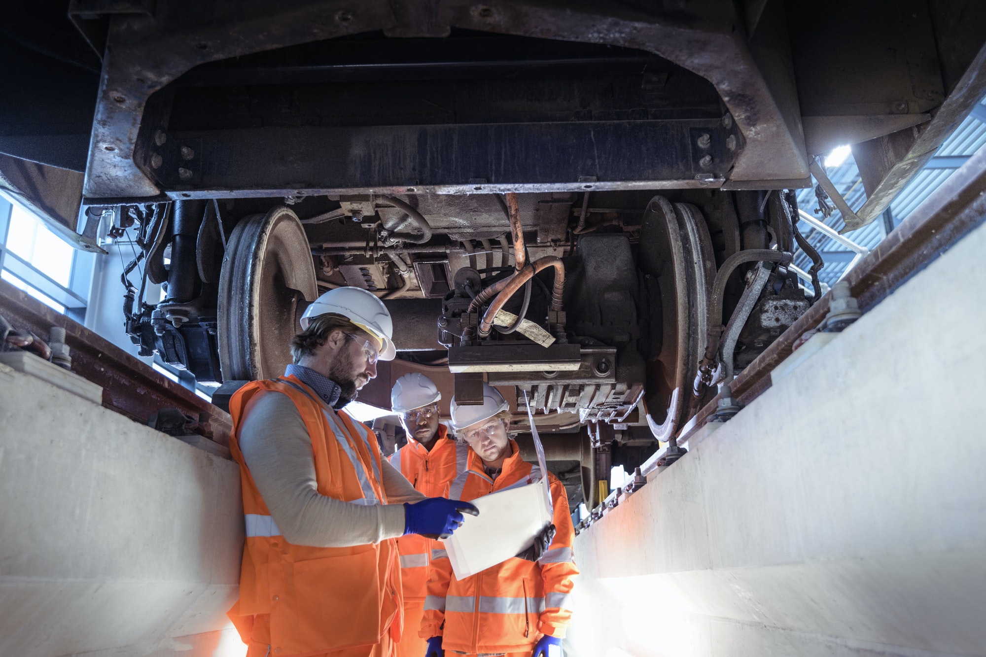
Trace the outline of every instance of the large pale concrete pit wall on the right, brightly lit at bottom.
{"label": "large pale concrete pit wall on the right, brightly lit at bottom", "polygon": [[986,226],[576,540],[567,655],[986,655]]}

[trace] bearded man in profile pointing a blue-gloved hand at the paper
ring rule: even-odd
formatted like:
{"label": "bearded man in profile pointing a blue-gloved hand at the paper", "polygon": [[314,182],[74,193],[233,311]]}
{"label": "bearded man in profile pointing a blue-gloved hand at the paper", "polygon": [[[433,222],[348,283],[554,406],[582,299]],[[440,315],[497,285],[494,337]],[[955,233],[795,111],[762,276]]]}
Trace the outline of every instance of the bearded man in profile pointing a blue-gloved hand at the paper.
{"label": "bearded man in profile pointing a blue-gloved hand at the paper", "polygon": [[449,535],[475,509],[414,490],[340,410],[395,355],[383,302],[340,287],[301,325],[285,375],[230,400],[246,515],[230,618],[247,657],[390,657],[403,624],[395,539]]}

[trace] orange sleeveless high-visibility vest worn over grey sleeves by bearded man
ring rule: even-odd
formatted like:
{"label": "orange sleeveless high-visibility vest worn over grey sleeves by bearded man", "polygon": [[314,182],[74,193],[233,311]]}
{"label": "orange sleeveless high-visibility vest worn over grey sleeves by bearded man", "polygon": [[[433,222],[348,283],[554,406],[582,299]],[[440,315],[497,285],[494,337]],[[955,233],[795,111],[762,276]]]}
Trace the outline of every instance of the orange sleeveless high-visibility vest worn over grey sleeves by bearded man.
{"label": "orange sleeveless high-visibility vest worn over grey sleeves by bearded man", "polygon": [[[253,381],[230,400],[230,451],[240,464],[246,545],[240,600],[229,616],[249,643],[253,624],[270,624],[270,655],[312,655],[400,638],[402,600],[396,542],[354,547],[288,543],[257,491],[237,443],[247,402],[261,391],[287,395],[312,437],[318,493],[354,504],[386,504],[376,437],[336,413],[294,376]],[[373,436],[373,438],[371,438]]]}

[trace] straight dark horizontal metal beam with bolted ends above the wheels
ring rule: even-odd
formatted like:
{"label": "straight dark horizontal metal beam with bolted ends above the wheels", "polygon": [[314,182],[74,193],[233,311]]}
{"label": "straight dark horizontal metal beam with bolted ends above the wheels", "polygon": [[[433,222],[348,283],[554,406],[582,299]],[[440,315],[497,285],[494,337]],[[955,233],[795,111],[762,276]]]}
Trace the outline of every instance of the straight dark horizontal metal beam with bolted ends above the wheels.
{"label": "straight dark horizontal metal beam with bolted ends above the wheels", "polygon": [[715,187],[735,162],[731,132],[708,119],[185,132],[174,141],[195,159],[154,178],[175,198]]}

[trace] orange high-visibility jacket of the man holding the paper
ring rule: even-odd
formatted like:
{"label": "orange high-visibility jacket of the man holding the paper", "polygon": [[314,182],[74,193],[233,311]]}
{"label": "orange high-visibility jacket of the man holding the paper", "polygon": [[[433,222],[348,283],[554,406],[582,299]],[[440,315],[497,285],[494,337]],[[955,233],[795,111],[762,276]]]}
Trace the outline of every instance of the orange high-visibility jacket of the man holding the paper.
{"label": "orange high-visibility jacket of the man holding the paper", "polygon": [[[510,442],[514,453],[496,481],[475,452],[461,451],[450,498],[468,501],[538,480],[540,469],[525,463],[517,443]],[[420,636],[442,635],[445,650],[476,654],[528,651],[540,634],[565,635],[572,620],[572,578],[579,574],[572,553],[575,530],[565,486],[550,473],[548,481],[556,534],[544,555],[537,562],[512,557],[458,580],[445,551],[433,552]]]}

